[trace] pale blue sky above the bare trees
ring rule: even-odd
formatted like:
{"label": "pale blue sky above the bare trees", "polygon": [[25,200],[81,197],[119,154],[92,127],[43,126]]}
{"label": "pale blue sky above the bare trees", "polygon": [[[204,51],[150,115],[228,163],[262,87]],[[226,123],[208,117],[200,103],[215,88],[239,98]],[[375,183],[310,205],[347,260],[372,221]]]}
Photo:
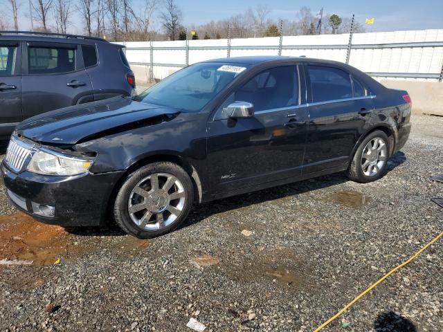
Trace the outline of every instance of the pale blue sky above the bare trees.
{"label": "pale blue sky above the bare trees", "polygon": [[[136,10],[145,0],[132,0]],[[392,31],[392,30],[420,30],[443,28],[443,0],[176,0],[183,11],[183,24],[190,26],[207,23],[211,20],[226,19],[244,12],[248,7],[267,5],[271,9],[271,19],[296,19],[296,13],[302,6],[311,8],[315,14],[323,8],[325,14],[337,14],[341,17],[351,17],[355,14],[356,20],[365,26],[366,31]],[[74,5],[76,1],[72,0]],[[20,30],[30,28],[28,0],[19,0]],[[9,17],[8,8],[2,6],[0,14]],[[154,19],[158,21],[158,14]],[[373,25],[365,25],[366,18],[374,17]],[[82,23],[78,13],[71,19],[70,33],[81,33]]]}

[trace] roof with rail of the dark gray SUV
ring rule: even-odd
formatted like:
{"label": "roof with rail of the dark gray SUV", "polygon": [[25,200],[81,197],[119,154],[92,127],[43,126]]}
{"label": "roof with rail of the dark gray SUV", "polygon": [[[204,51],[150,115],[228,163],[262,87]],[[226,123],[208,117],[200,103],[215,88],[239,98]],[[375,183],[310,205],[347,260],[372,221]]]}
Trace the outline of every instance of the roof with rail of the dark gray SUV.
{"label": "roof with rail of the dark gray SUV", "polygon": [[60,33],[41,33],[37,31],[0,31],[0,41],[25,41],[25,42],[66,42],[92,45],[96,42],[109,43],[99,37],[87,37]]}

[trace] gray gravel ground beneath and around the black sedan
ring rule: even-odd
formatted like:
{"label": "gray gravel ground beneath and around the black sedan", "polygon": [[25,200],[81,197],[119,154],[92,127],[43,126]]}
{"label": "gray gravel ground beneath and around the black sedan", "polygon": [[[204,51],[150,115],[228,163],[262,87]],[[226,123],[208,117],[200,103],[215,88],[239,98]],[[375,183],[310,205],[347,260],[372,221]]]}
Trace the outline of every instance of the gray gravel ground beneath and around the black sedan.
{"label": "gray gravel ground beneath and around the black sedan", "polygon": [[[429,200],[442,165],[443,118],[414,116],[376,183],[337,174],[215,201],[148,241],[51,228],[58,242],[42,247],[60,264],[0,267],[0,329],[192,331],[194,317],[205,331],[312,331],[442,232]],[[3,195],[0,212],[26,218]],[[18,233],[1,245],[30,245]],[[443,331],[442,263],[440,239],[324,331]]]}

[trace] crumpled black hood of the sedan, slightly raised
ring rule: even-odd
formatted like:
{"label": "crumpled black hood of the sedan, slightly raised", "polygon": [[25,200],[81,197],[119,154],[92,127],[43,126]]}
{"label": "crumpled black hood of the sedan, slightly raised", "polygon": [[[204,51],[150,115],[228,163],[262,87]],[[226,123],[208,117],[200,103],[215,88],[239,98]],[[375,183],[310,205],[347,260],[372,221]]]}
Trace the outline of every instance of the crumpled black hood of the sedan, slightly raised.
{"label": "crumpled black hood of the sedan, slightly raised", "polygon": [[42,113],[21,122],[15,132],[53,145],[75,145],[88,138],[106,136],[113,129],[121,131],[138,125],[172,119],[179,109],[135,102],[131,98],[115,97]]}

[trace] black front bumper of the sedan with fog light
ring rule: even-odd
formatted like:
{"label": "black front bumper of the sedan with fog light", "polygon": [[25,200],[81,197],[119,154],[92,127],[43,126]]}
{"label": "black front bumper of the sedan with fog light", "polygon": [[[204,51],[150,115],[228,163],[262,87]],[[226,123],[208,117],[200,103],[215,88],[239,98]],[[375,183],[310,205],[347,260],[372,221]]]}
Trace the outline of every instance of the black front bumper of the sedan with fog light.
{"label": "black front bumper of the sedan with fog light", "polygon": [[16,174],[1,163],[10,201],[35,219],[62,226],[105,223],[111,192],[124,171],[77,176]]}

